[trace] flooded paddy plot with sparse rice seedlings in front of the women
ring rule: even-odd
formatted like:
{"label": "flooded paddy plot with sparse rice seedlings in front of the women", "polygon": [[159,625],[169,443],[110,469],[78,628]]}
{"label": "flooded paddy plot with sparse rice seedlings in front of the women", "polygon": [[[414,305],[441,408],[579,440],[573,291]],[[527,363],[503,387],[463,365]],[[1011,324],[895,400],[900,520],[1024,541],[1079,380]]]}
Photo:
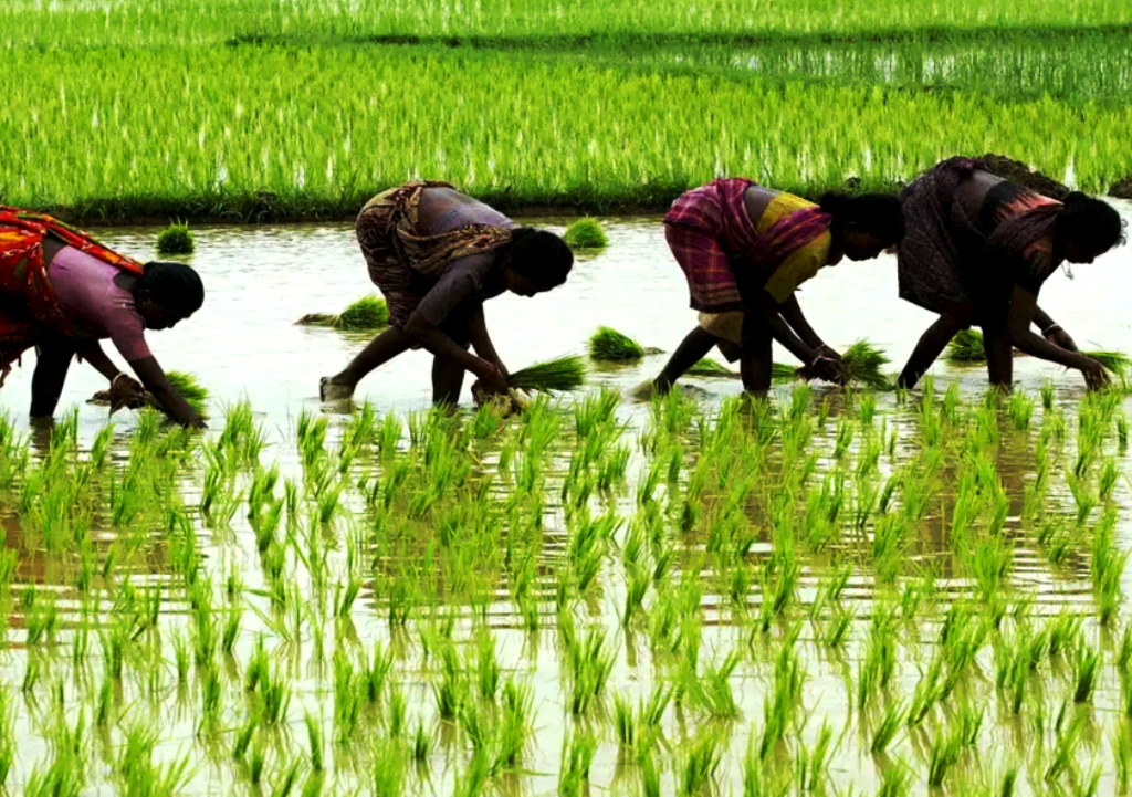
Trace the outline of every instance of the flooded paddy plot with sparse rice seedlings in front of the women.
{"label": "flooded paddy plot with sparse rice seedlings in front of the women", "polygon": [[[1127,214],[1127,206],[1122,213]],[[551,222],[552,223],[552,222]],[[512,369],[600,324],[694,324],[659,220],[610,220],[564,289],[491,303]],[[156,230],[103,231],[152,257]],[[1129,403],[1019,359],[908,395],[597,369],[521,418],[429,413],[427,354],[352,413],[366,338],[292,326],[369,292],[349,225],[197,230],[205,308],[152,337],[213,428],[0,402],[0,774],[25,794],[1116,794],[1132,766]],[[1048,283],[1132,348],[1129,250]],[[806,285],[895,370],[931,317],[895,264]],[[786,359],[784,354],[779,354]]]}

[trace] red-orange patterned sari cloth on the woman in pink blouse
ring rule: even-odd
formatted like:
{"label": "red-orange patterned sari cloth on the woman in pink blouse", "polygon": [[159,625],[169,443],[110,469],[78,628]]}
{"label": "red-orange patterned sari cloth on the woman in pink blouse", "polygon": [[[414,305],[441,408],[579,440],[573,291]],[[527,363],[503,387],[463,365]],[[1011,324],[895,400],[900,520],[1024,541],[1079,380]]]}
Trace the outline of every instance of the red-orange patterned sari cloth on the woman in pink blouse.
{"label": "red-orange patterned sari cloth on the woman in pink blouse", "polygon": [[0,369],[5,372],[49,329],[83,334],[59,307],[48,278],[43,239],[49,234],[122,271],[138,275],[143,272],[139,262],[108,249],[58,218],[0,205]]}

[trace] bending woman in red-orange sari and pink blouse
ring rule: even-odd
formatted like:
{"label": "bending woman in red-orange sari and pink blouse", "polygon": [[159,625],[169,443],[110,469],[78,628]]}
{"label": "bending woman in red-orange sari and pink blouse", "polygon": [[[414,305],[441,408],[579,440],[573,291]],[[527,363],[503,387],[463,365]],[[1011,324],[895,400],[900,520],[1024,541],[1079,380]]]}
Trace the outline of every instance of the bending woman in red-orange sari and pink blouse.
{"label": "bending woman in red-orange sari and pink blouse", "polygon": [[[113,401],[128,402],[144,386],[173,420],[203,427],[145,341],[146,329],[169,329],[203,303],[204,286],[189,266],[143,265],[51,216],[0,206],[0,386],[34,346],[33,418],[54,413],[77,355],[110,380]],[[140,384],[102,350],[105,338]]]}

